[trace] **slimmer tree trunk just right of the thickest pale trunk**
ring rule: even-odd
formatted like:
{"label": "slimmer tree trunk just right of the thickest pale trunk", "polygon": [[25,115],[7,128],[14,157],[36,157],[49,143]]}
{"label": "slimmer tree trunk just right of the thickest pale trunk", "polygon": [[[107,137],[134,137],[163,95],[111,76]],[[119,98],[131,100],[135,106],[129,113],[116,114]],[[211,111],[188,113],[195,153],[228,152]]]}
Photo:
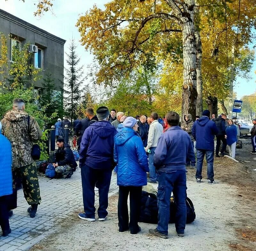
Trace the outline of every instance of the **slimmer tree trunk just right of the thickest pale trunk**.
{"label": "slimmer tree trunk just right of the thickest pale trunk", "polygon": [[[199,7],[196,7],[196,14],[199,16]],[[197,24],[199,25],[199,24]],[[199,32],[199,27],[196,26],[196,115],[202,116],[203,114],[203,80],[202,80],[202,42]]]}

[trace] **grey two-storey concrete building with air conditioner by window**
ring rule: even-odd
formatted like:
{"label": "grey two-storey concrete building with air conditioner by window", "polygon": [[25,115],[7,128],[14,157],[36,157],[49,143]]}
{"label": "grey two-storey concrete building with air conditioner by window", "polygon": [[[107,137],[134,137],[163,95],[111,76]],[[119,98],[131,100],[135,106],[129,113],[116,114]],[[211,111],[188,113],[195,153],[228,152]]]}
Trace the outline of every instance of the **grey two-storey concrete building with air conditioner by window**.
{"label": "grey two-storey concrete building with air conditioner by window", "polygon": [[[12,47],[30,43],[36,45],[36,53],[31,53],[30,64],[41,68],[41,75],[49,70],[55,83],[55,90],[63,90],[64,74],[64,44],[61,39],[49,32],[40,29],[12,14],[0,9],[0,32],[7,38],[8,59],[12,63]],[[10,39],[9,39],[10,36]],[[33,48],[32,48],[33,49]],[[42,87],[42,79],[35,83],[35,89]]]}

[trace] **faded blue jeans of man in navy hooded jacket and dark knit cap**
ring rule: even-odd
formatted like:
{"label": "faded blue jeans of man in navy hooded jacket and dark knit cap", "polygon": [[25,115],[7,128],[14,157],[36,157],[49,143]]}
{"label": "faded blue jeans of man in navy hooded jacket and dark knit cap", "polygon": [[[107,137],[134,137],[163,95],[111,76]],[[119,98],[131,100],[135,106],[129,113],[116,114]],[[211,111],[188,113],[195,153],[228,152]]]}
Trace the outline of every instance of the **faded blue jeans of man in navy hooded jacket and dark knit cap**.
{"label": "faded blue jeans of man in navy hooded jacket and dark knit cap", "polygon": [[204,155],[206,156],[206,162],[207,162],[207,179],[214,181],[214,171],[213,171],[214,150],[196,149],[196,156],[197,156],[196,179],[203,178],[202,168],[203,168]]}

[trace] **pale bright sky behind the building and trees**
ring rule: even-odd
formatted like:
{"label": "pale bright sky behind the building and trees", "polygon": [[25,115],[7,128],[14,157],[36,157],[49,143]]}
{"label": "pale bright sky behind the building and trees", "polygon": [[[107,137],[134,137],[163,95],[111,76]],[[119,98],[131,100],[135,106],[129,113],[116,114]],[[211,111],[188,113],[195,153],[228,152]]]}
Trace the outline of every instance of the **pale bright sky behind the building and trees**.
{"label": "pale bright sky behind the building and trees", "polygon": [[[64,46],[64,51],[68,52],[68,44],[72,36],[76,39],[77,54],[81,57],[81,64],[84,65],[84,74],[87,75],[87,66],[93,62],[93,56],[90,52],[85,51],[84,47],[79,43],[80,34],[76,27],[76,21],[79,15],[83,15],[89,11],[94,4],[103,9],[104,4],[109,0],[55,0],[53,1],[53,12],[45,12],[43,17],[34,17],[33,13],[36,11],[36,0],[25,0],[25,3],[20,0],[0,0],[0,9],[11,13],[45,31],[52,33],[67,42]],[[252,47],[254,44],[251,44]],[[65,62],[64,62],[65,66]],[[250,81],[243,78],[237,78],[234,83],[234,91],[237,93],[237,98],[240,99],[244,95],[250,95],[256,91],[256,60],[254,61]],[[87,80],[89,81],[89,80]],[[85,84],[88,84],[85,82]]]}

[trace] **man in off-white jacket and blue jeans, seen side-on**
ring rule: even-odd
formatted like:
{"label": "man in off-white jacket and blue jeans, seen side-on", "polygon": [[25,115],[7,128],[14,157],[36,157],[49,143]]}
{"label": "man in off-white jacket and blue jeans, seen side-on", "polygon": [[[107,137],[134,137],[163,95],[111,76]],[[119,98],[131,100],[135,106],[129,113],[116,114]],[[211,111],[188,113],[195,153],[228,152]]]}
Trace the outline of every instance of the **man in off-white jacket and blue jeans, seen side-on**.
{"label": "man in off-white jacket and blue jeans, seen side-on", "polygon": [[150,153],[148,154],[148,165],[149,165],[149,183],[157,183],[156,168],[154,166],[154,154],[157,146],[157,141],[159,137],[163,134],[163,126],[158,122],[158,114],[152,113],[150,115],[151,124],[148,131],[148,145],[146,147],[146,152],[148,149]]}

